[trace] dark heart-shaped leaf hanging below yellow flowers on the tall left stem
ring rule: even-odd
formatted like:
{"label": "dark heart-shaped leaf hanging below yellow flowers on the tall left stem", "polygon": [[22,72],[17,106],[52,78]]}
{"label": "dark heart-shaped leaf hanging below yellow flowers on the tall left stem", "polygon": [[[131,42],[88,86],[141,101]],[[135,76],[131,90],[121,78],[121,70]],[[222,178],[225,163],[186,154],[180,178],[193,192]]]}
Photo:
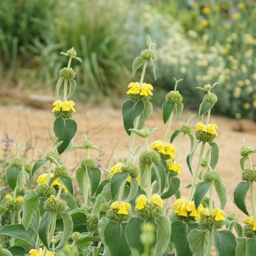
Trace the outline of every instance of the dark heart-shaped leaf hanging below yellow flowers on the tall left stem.
{"label": "dark heart-shaped leaf hanging below yellow flowers on the tall left stem", "polygon": [[54,134],[59,140],[63,140],[62,144],[57,148],[58,153],[61,154],[68,147],[70,140],[76,134],[77,124],[73,119],[63,119],[58,116],[53,123]]}

